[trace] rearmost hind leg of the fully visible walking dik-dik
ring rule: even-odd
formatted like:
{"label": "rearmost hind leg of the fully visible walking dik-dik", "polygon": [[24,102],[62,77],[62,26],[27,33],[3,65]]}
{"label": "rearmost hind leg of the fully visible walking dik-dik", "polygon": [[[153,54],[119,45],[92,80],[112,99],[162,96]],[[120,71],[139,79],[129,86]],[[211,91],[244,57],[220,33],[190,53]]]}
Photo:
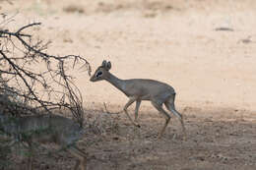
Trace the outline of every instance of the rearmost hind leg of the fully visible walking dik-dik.
{"label": "rearmost hind leg of the fully visible walking dik-dik", "polygon": [[164,105],[171,113],[173,113],[173,115],[175,115],[179,119],[180,124],[182,126],[183,138],[184,140],[186,140],[187,135],[186,135],[186,129],[183,122],[183,116],[175,109],[174,100],[175,100],[175,94],[171,95],[170,98],[166,102],[164,102]]}

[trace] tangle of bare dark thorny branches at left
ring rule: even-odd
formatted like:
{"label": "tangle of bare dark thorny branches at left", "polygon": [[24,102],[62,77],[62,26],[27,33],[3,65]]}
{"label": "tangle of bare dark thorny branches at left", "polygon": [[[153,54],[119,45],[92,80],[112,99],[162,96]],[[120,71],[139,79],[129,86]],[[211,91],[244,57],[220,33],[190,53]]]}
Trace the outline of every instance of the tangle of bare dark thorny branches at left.
{"label": "tangle of bare dark thorny branches at left", "polygon": [[16,31],[1,28],[3,24],[0,24],[0,111],[21,116],[69,110],[82,126],[83,98],[71,73],[86,68],[90,75],[89,62],[78,55],[47,54],[50,42],[35,39],[30,33],[40,23]]}

